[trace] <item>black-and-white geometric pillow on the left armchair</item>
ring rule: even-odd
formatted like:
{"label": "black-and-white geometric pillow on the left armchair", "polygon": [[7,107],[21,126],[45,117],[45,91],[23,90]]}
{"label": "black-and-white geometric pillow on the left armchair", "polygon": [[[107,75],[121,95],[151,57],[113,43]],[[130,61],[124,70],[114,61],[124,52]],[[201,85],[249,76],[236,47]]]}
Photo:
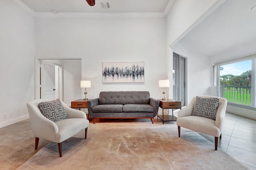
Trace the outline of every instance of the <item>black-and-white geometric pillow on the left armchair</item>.
{"label": "black-and-white geometric pillow on the left armchair", "polygon": [[68,115],[62,106],[60,99],[49,102],[40,102],[38,107],[40,108],[44,117],[50,119],[53,122],[60,121],[62,119],[68,119]]}

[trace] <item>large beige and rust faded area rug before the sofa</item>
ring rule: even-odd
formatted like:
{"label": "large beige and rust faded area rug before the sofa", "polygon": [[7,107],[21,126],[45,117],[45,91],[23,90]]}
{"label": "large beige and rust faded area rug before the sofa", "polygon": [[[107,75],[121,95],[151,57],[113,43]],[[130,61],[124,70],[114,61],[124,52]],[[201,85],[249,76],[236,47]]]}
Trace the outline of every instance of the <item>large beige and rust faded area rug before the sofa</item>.
{"label": "large beige and rust faded area rug before the sofa", "polygon": [[[84,131],[62,144],[49,143],[18,169],[86,170],[247,170],[194,131],[176,122],[90,123]],[[40,142],[40,141],[39,141]]]}

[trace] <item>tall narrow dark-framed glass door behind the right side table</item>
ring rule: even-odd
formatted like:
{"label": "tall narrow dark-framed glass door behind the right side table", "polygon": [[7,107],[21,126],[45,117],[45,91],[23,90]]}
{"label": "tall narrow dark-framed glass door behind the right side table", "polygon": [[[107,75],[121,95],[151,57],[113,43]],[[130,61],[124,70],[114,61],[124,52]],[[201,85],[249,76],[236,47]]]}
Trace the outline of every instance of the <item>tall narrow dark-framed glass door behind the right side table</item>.
{"label": "tall narrow dark-framed glass door behind the right side table", "polygon": [[173,99],[180,100],[186,106],[186,58],[173,53]]}

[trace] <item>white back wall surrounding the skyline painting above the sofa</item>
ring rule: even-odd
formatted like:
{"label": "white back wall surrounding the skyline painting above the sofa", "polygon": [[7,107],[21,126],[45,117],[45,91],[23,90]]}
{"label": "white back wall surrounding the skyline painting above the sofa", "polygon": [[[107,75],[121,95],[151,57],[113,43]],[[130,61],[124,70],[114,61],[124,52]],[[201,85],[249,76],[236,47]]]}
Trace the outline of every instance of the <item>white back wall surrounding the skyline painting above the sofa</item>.
{"label": "white back wall surrounding the skyline painting above the sofa", "polygon": [[[82,58],[88,98],[100,91],[145,90],[162,98],[158,80],[166,78],[166,19],[36,19],[37,58]],[[143,61],[144,83],[102,83],[102,62]],[[79,84],[78,84],[79,86]]]}

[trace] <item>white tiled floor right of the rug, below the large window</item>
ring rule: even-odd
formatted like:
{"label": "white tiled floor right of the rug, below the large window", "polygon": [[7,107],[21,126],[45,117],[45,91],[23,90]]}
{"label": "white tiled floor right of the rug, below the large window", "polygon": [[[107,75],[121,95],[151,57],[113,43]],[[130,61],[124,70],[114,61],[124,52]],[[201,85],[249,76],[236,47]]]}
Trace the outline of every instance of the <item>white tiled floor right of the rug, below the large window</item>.
{"label": "white tiled floor right of the rug, below the large window", "polygon": [[[199,134],[214,143],[214,137]],[[226,112],[218,147],[246,167],[256,170],[256,120]]]}

